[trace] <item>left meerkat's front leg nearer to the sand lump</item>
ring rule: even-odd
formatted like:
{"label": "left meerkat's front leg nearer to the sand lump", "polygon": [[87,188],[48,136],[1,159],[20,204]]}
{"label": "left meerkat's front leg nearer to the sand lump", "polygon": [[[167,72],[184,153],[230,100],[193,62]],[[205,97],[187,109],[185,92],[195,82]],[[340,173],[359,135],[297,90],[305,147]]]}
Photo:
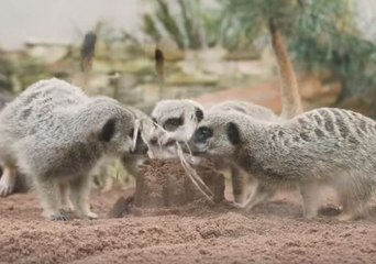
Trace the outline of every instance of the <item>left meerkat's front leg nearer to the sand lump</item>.
{"label": "left meerkat's front leg nearer to the sand lump", "polygon": [[98,216],[90,210],[90,180],[89,175],[82,175],[70,182],[70,197],[79,218],[97,219]]}

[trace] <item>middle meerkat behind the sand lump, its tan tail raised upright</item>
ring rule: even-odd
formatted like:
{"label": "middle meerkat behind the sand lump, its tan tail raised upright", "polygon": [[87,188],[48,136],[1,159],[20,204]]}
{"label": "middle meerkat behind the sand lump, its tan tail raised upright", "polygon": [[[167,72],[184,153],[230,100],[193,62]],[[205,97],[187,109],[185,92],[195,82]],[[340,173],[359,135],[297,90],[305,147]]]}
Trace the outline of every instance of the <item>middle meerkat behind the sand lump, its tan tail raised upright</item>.
{"label": "middle meerkat behind the sand lump, its tan tail raised upright", "polygon": [[[208,109],[192,100],[162,100],[154,108],[152,118],[167,133],[156,128],[155,135],[152,136],[150,142],[152,148],[159,157],[176,156],[176,146],[170,144],[170,142],[187,141],[207,113],[234,110],[258,120],[279,122],[291,119],[303,111],[292,63],[286,51],[284,37],[273,19],[269,20],[269,32],[281,79],[283,109],[280,116],[266,107],[240,100],[224,101]],[[163,147],[159,148],[158,144]],[[234,200],[242,202],[246,195],[244,177],[248,176],[244,176],[244,173],[235,165],[229,165],[223,161],[217,162],[217,164],[221,164],[221,168],[230,166]]]}

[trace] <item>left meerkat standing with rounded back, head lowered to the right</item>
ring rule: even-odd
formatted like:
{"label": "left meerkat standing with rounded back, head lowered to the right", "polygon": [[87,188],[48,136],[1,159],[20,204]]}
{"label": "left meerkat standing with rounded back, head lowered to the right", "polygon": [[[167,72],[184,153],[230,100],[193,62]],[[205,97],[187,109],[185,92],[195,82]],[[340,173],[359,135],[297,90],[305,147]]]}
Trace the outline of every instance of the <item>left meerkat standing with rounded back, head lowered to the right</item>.
{"label": "left meerkat standing with rounded back, head lowered to the right", "polygon": [[0,113],[3,177],[14,180],[19,169],[32,178],[49,220],[66,220],[66,206],[95,219],[90,172],[106,156],[142,148],[133,143],[133,113],[114,99],[90,98],[56,78],[37,81]]}

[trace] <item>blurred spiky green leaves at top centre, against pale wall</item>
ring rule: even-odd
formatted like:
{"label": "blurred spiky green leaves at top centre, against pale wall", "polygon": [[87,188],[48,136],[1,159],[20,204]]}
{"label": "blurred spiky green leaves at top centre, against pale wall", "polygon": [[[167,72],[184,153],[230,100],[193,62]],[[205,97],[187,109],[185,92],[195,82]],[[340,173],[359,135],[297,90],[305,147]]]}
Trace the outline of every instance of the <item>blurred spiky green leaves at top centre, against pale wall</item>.
{"label": "blurred spiky green leaves at top centre, against pale wall", "polygon": [[[200,0],[157,0],[154,4],[153,14],[145,14],[143,18],[143,31],[154,42],[168,37],[181,50],[234,46],[236,33],[230,31],[230,23],[223,18],[221,9],[209,8],[203,11]],[[175,12],[172,11],[173,8]]]}

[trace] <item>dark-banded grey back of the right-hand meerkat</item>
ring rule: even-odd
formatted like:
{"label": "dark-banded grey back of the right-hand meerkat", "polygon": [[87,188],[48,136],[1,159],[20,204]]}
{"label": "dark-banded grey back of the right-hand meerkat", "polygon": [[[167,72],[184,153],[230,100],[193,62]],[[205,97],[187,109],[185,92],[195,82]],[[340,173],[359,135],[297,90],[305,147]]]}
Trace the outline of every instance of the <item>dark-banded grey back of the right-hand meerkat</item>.
{"label": "dark-banded grey back of the right-hand meerkat", "polygon": [[276,130],[272,136],[280,152],[291,147],[300,150],[297,151],[299,156],[290,155],[290,158],[295,157],[297,164],[306,161],[300,164],[303,167],[316,166],[319,170],[324,169],[320,164],[332,163],[339,169],[353,169],[362,163],[376,170],[376,122],[350,110],[321,108],[309,111]]}

